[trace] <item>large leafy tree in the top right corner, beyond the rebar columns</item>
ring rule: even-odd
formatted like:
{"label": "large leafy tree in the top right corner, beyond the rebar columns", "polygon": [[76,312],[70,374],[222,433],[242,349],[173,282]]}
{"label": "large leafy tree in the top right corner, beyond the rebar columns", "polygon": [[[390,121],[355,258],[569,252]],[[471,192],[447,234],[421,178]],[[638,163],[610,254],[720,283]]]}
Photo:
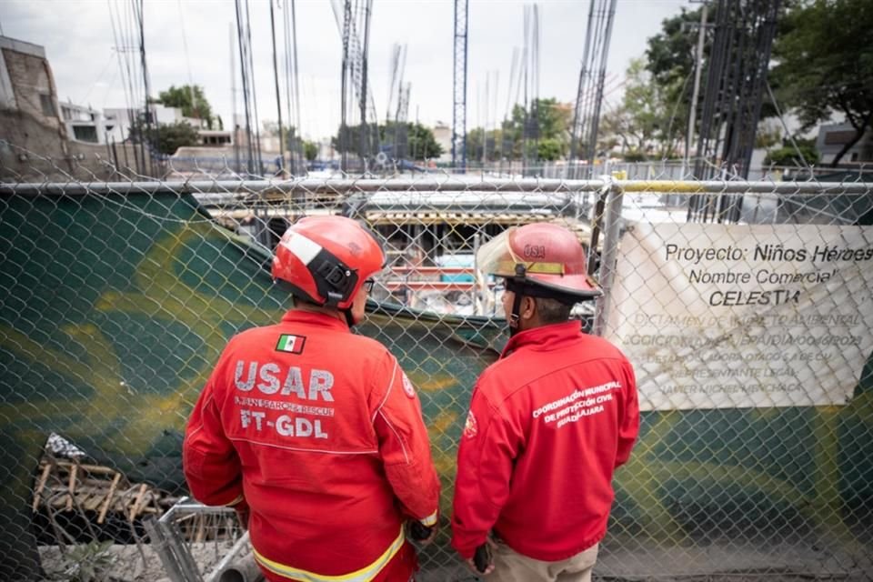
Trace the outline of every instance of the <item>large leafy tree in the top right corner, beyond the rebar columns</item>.
{"label": "large leafy tree in the top right corner, beyond the rebar columns", "polygon": [[773,59],[778,102],[797,112],[804,129],[838,113],[855,130],[834,157],[837,166],[873,124],[873,3],[792,5],[774,41]]}

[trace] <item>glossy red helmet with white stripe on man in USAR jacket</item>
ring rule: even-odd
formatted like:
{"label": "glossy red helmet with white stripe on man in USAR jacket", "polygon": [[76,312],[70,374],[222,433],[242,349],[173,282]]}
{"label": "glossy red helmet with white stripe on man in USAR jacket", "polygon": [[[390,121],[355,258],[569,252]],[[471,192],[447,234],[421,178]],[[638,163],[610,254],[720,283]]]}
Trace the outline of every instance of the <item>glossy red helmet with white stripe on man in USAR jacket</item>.
{"label": "glossy red helmet with white stripe on man in USAR jacket", "polygon": [[364,281],[385,265],[366,228],[345,216],[306,216],[276,246],[273,278],[310,303],[349,309]]}

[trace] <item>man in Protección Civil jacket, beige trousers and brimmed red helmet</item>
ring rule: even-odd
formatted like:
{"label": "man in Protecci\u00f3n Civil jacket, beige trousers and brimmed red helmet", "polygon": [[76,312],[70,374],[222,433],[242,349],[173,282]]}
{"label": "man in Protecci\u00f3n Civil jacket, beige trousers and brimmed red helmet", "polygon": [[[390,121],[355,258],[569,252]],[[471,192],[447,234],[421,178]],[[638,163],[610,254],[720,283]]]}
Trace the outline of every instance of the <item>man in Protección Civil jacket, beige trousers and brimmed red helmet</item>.
{"label": "man in Protecci\u00f3n Civil jacket, beige trousers and brimmed red helmet", "polygon": [[570,309],[601,293],[573,233],[511,228],[477,264],[505,278],[510,338],[479,376],[457,450],[452,546],[493,580],[590,580],[612,476],[637,438],[633,368]]}

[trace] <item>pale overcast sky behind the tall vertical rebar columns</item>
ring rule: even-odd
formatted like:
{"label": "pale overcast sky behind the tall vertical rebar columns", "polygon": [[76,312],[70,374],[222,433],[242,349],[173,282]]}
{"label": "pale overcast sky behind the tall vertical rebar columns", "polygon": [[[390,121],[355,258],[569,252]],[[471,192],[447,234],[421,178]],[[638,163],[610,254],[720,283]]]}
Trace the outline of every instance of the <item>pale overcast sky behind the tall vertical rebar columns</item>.
{"label": "pale overcast sky behind the tall vertical rebar columns", "polygon": [[[276,0],[274,4],[280,75],[284,69],[282,9],[290,2]],[[275,121],[269,3],[250,0],[248,4],[258,116],[261,121]],[[138,58],[138,53],[130,53],[130,47],[119,40],[122,23],[130,21],[130,5],[129,0],[0,0],[0,34],[45,47],[61,101],[69,99],[97,109],[126,107],[130,92],[125,95],[126,74],[119,56]],[[525,5],[530,3],[469,0],[468,129],[497,124],[512,100],[507,85],[513,50],[523,45]],[[574,102],[589,3],[543,0],[538,6],[539,95]],[[645,54],[647,38],[656,35],[661,22],[678,14],[682,6],[694,8],[689,0],[617,0],[607,61],[607,107],[620,99],[629,60]],[[231,35],[236,43],[233,0],[146,0],[144,12],[152,95],[170,85],[202,85],[214,112],[230,120],[234,109]],[[368,76],[380,120],[388,105],[391,54],[399,44],[406,45],[404,79],[412,85],[410,120],[451,124],[453,19],[452,0],[373,1]],[[333,135],[340,119],[342,43],[330,1],[296,0],[296,30],[301,133],[308,139]],[[239,114],[236,44],[233,50]],[[284,76],[280,85],[285,99]],[[282,115],[286,117],[286,105]]]}

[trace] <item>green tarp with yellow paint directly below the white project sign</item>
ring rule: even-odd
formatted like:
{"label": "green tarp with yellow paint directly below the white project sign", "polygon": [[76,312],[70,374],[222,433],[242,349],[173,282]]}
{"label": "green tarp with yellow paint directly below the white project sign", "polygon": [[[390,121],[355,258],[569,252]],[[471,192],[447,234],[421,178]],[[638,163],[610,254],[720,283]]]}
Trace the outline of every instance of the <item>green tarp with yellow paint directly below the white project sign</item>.
{"label": "green tarp with yellow paint directly below the white project sign", "polygon": [[[651,412],[617,474],[614,531],[677,545],[813,531],[856,547],[873,521],[873,392],[848,406]],[[862,477],[866,476],[866,477]],[[859,546],[858,546],[859,547]]]}

